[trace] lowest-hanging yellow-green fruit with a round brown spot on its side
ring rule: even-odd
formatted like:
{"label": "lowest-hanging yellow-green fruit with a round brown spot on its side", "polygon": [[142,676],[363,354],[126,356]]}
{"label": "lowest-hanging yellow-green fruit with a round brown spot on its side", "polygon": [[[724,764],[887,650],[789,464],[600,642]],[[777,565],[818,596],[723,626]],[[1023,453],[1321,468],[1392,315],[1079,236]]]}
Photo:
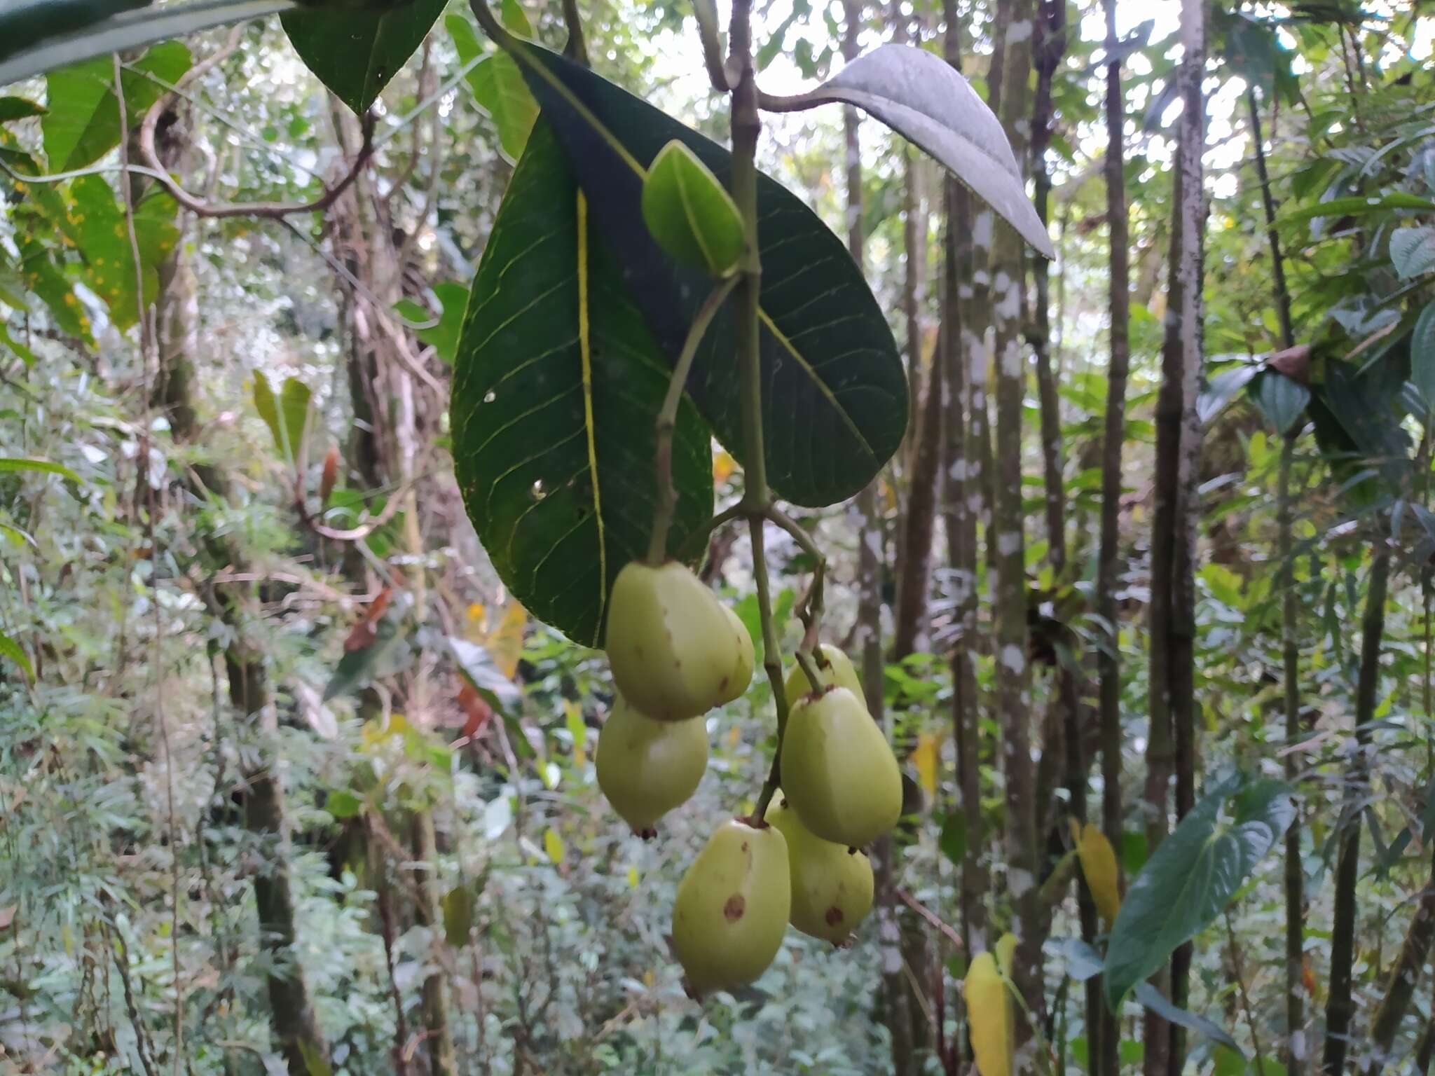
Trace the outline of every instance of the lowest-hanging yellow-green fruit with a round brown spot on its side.
{"label": "lowest-hanging yellow-green fruit with a round brown spot on its side", "polygon": [[673,951],[689,990],[732,990],[761,976],[788,928],[788,842],[771,825],[723,822],[673,901]]}

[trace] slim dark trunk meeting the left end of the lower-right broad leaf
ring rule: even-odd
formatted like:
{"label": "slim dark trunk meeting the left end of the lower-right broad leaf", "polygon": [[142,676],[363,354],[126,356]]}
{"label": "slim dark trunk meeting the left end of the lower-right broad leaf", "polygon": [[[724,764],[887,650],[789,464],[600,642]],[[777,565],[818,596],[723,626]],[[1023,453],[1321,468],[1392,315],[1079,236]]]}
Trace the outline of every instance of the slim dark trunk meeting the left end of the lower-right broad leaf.
{"label": "slim dark trunk meeting the left end of the lower-right broad leaf", "polygon": [[[1106,53],[1116,49],[1116,0],[1105,0]],[[1126,215],[1125,100],[1121,62],[1106,65],[1106,221],[1111,228],[1111,362],[1106,369],[1106,417],[1101,459],[1101,551],[1096,560],[1096,615],[1106,636],[1096,651],[1101,677],[1101,825],[1114,848],[1121,848],[1125,819],[1121,806],[1121,624],[1116,577],[1121,571],[1121,455],[1126,436],[1126,376],[1131,367],[1131,254]],[[1119,859],[1118,859],[1119,869]],[[1099,1017],[1091,1056],[1093,1072],[1116,1076],[1119,1029],[1096,991]]]}

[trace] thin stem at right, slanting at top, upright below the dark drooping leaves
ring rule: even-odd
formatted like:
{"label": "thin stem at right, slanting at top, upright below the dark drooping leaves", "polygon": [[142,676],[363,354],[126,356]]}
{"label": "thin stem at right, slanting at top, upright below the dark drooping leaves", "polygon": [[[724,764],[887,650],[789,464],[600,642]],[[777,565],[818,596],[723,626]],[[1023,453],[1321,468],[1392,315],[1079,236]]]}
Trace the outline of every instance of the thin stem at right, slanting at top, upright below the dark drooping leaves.
{"label": "thin stem at right, slanting at top, upright below the dark drooping leaves", "polygon": [[[1286,288],[1286,260],[1280,250],[1280,232],[1276,231],[1276,199],[1270,189],[1270,174],[1266,169],[1266,143],[1260,131],[1260,108],[1256,102],[1256,88],[1246,89],[1246,105],[1251,119],[1251,145],[1256,148],[1256,174],[1260,179],[1261,207],[1266,211],[1266,238],[1270,242],[1271,284],[1276,298],[1276,316],[1280,318],[1280,346],[1296,346],[1296,330],[1290,317],[1290,291]],[[1296,455],[1299,429],[1286,430],[1280,445],[1280,478],[1276,502],[1276,555],[1280,561],[1280,641],[1284,673],[1286,746],[1300,740],[1300,608],[1296,595],[1294,552],[1292,538],[1290,471]],[[1287,752],[1284,773],[1289,783],[1297,778],[1296,752]],[[1304,868],[1300,861],[1300,816],[1286,831],[1286,1040],[1281,1046],[1281,1060],[1289,1070],[1296,1070],[1306,1057],[1306,897]]]}

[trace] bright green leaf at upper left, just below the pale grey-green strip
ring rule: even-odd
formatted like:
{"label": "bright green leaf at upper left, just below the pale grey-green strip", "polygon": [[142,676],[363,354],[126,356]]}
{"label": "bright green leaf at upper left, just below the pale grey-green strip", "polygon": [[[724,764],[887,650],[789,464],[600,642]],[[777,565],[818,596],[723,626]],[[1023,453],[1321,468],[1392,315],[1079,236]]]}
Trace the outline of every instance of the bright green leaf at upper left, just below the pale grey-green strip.
{"label": "bright green leaf at upper left, just below the pale grey-green strip", "polygon": [[[174,85],[187,70],[189,50],[179,42],[156,44],[126,65],[119,76],[125,118],[138,123],[165,92],[162,83]],[[50,72],[46,90],[50,110],[40,121],[40,132],[52,172],[83,168],[119,145],[119,102],[109,56]]]}

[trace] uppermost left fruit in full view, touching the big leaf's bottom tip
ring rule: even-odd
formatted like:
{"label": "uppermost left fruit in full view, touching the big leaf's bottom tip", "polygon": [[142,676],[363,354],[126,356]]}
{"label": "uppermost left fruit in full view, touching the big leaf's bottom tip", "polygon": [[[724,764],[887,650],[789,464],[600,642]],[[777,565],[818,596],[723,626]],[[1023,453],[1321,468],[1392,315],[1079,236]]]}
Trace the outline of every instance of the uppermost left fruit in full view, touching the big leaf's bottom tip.
{"label": "uppermost left fruit in full view, touching the big leaf's bottom tip", "polygon": [[618,572],[607,648],[623,697],[656,720],[696,717],[736,697],[738,633],[718,597],[677,561],[657,568],[633,561]]}

